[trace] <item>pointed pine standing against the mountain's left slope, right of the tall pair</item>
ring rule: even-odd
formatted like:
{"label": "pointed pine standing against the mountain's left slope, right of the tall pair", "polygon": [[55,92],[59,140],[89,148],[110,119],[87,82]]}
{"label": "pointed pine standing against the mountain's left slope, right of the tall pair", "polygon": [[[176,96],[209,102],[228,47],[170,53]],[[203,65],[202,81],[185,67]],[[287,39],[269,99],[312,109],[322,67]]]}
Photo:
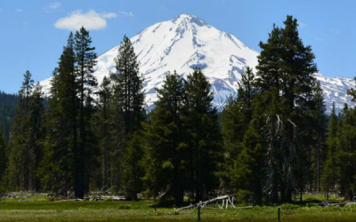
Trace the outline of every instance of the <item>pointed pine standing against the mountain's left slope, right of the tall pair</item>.
{"label": "pointed pine standing against the mountain's left slope, right of the tall pair", "polygon": [[[114,151],[115,159],[115,186],[120,187],[121,176],[125,168],[130,168],[125,163],[126,148],[134,132],[142,129],[145,120],[143,78],[140,75],[139,63],[134,53],[134,46],[127,36],[118,49],[116,73],[110,74],[114,83],[114,102],[117,149]],[[137,160],[139,161],[139,160]],[[128,170],[128,169],[126,169]],[[132,169],[129,171],[133,171]]]}

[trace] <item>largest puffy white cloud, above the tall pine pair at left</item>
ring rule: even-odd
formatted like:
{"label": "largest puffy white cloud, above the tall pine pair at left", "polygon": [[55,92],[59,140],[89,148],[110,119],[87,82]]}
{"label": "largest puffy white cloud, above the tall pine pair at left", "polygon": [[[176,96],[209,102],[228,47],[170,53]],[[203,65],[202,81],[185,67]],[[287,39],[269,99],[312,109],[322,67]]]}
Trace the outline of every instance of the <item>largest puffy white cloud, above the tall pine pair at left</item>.
{"label": "largest puffy white cloud, above the tall pine pair at left", "polygon": [[85,27],[88,30],[98,30],[107,26],[106,19],[115,17],[116,13],[113,12],[100,14],[93,10],[86,13],[78,10],[70,13],[67,17],[57,20],[54,27],[68,30],[77,30]]}

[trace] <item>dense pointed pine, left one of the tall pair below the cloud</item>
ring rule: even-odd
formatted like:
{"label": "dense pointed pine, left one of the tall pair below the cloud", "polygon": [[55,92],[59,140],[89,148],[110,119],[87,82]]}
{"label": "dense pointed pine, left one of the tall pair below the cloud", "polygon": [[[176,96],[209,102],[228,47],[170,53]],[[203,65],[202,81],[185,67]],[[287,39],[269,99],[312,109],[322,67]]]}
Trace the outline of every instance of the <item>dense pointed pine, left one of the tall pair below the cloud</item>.
{"label": "dense pointed pine, left one of the tall pair below the cloud", "polygon": [[77,116],[80,107],[75,63],[74,37],[70,33],[59,67],[53,71],[45,121],[47,135],[41,178],[44,188],[54,194],[67,195],[74,184],[74,151],[78,148]]}

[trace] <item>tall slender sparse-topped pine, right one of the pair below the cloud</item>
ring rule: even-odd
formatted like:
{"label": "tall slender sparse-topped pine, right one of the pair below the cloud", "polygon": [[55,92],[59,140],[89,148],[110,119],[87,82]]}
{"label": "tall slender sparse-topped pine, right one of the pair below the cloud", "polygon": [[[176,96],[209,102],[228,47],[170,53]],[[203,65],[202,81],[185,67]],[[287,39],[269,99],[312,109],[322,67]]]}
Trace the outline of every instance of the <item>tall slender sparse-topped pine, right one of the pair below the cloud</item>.
{"label": "tall slender sparse-topped pine, right one of the pair below the cloud", "polygon": [[96,65],[95,48],[91,46],[89,32],[80,28],[74,37],[76,75],[79,93],[79,143],[74,149],[75,195],[83,198],[89,191],[89,170],[93,158],[93,98],[92,90],[97,85],[93,76]]}

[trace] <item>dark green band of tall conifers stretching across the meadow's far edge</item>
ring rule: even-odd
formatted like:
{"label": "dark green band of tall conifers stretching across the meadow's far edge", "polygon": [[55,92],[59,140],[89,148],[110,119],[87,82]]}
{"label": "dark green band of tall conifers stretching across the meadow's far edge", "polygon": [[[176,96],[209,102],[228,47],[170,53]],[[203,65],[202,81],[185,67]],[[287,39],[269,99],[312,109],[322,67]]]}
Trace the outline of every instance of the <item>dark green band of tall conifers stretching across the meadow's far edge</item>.
{"label": "dark green band of tall conifers stretching across the meadow's far edge", "polygon": [[[297,27],[292,16],[273,26],[221,123],[202,70],[185,79],[167,74],[147,113],[130,39],[124,36],[116,71],[99,84],[89,32],[70,33],[48,102],[24,75],[9,143],[0,140],[0,190],[143,194],[177,206],[185,196],[199,202],[217,194],[256,205],[303,200],[305,192],[352,200],[356,112],[345,104],[326,115],[315,55]],[[348,93],[356,100],[354,89]]]}

